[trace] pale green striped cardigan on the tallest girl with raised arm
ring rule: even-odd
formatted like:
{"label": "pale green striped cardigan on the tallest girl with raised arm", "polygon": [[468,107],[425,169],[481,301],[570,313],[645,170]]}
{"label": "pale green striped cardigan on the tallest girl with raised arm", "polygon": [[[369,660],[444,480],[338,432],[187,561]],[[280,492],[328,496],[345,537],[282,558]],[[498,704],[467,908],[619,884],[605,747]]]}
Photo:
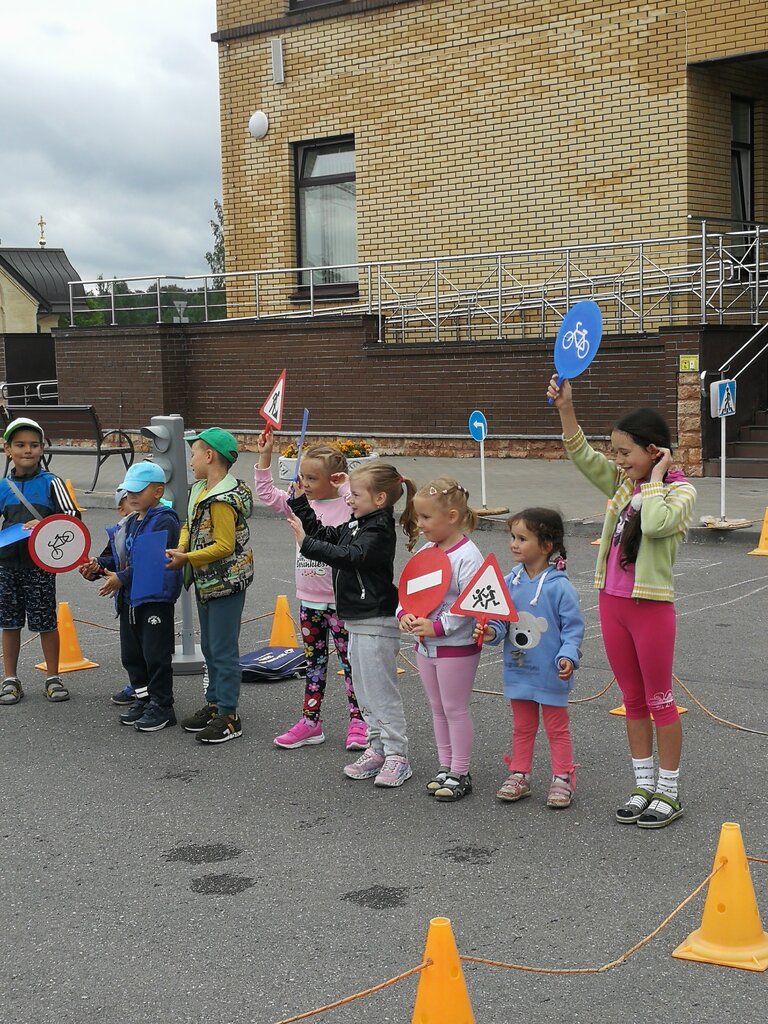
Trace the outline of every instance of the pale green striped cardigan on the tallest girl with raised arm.
{"label": "pale green striped cardigan on the tallest girl with raised arm", "polygon": [[[563,444],[577,468],[610,499],[595,569],[595,587],[602,590],[613,532],[622,510],[632,499],[635,483],[614,462],[589,444],[581,427],[572,437],[563,436]],[[640,494],[643,499],[640,509],[642,538],[632,596],[649,601],[674,601],[672,566],[693,518],[696,490],[687,480],[672,483],[658,480],[642,483]]]}

